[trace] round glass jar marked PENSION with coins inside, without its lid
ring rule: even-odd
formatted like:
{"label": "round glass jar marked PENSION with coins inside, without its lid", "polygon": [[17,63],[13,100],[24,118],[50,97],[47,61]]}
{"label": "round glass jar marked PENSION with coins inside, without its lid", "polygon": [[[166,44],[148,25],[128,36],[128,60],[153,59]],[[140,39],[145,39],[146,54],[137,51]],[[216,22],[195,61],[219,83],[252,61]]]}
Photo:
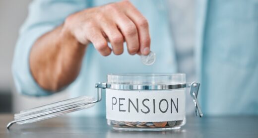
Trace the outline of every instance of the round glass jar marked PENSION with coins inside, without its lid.
{"label": "round glass jar marked PENSION with coins inside, without its lid", "polygon": [[126,131],[180,129],[186,124],[186,87],[191,84],[184,73],[108,74],[107,124]]}

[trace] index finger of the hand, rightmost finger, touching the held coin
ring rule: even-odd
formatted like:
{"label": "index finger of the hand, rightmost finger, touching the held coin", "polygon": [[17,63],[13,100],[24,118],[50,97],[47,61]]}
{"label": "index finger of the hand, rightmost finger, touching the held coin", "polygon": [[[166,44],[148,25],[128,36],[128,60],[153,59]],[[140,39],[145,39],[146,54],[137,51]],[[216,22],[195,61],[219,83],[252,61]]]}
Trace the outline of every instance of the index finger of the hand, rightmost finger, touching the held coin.
{"label": "index finger of the hand, rightmost finger, touching the held coin", "polygon": [[150,52],[148,21],[129,1],[125,1],[124,4],[128,7],[128,9],[125,10],[126,15],[133,21],[138,30],[140,53],[148,55]]}

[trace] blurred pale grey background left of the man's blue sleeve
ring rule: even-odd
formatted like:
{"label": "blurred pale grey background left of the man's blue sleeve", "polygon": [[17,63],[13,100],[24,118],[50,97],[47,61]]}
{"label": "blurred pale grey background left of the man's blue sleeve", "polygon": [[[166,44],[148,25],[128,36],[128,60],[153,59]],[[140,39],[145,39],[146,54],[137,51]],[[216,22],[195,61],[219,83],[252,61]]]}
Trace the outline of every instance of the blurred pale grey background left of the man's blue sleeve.
{"label": "blurred pale grey background left of the man's blue sleeve", "polygon": [[63,100],[67,92],[35,98],[22,96],[15,91],[11,63],[19,27],[25,20],[32,0],[0,0],[0,113],[20,110]]}

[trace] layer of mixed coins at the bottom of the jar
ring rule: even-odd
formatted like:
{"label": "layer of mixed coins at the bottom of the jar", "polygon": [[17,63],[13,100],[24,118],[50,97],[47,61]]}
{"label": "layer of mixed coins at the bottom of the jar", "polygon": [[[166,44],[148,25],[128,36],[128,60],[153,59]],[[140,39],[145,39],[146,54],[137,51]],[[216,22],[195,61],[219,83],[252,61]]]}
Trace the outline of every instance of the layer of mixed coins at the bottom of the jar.
{"label": "layer of mixed coins at the bottom of the jar", "polygon": [[183,120],[169,121],[169,122],[124,122],[124,121],[111,121],[113,127],[118,128],[171,128],[181,126]]}

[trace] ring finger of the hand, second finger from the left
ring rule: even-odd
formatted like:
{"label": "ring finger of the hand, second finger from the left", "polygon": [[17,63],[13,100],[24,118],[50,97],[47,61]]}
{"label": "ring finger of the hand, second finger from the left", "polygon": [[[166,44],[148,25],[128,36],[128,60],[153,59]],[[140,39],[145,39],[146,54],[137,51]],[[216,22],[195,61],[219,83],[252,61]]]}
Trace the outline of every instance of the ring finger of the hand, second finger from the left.
{"label": "ring finger of the hand, second finger from the left", "polygon": [[112,45],[112,51],[115,55],[121,55],[124,52],[124,37],[119,31],[116,24],[112,23],[103,23],[102,29],[107,35],[111,45]]}

